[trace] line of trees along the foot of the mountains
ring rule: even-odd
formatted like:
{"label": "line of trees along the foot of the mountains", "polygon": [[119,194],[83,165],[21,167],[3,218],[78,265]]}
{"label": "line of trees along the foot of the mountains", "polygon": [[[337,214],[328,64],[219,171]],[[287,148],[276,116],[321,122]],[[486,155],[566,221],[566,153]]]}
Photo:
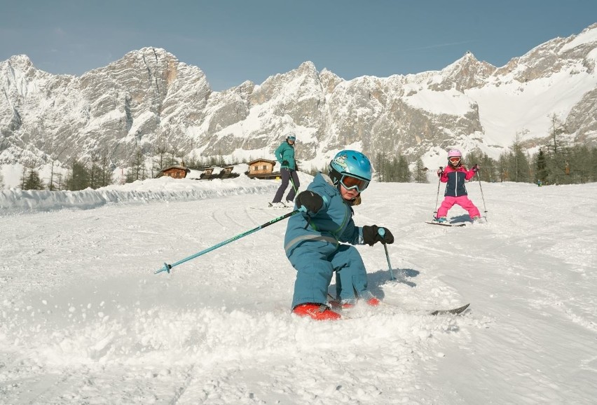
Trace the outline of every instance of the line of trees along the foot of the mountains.
{"label": "line of trees along the foot of the mountains", "polygon": [[[483,181],[517,181],[542,184],[582,184],[597,181],[597,148],[584,145],[569,146],[561,141],[565,133],[553,118],[554,126],[549,142],[542,146],[537,153],[530,155],[521,135],[516,134],[514,143],[497,160],[486,153],[470,152],[464,156],[467,167],[479,164],[479,176]],[[172,165],[184,164],[191,169],[202,170],[205,167],[228,165],[221,153],[217,156],[182,158],[179,153],[157,149],[157,155],[146,158],[141,149],[132,153],[127,170],[121,174],[121,182],[130,183],[136,180],[154,178],[160,170]],[[147,160],[150,160],[149,162]],[[184,162],[184,163],[182,163]],[[246,162],[242,162],[246,163]],[[416,182],[427,183],[427,170],[437,170],[436,167],[427,169],[423,161],[418,158],[411,164],[406,156],[400,154],[389,155],[378,153],[372,159],[376,167],[376,179],[383,182]],[[67,174],[55,173],[53,168],[50,178],[44,182],[39,171],[32,165],[23,168],[20,186],[23,190],[83,190],[85,188],[99,188],[114,184],[115,165],[107,157],[107,153],[97,153],[86,160],[72,158]],[[322,172],[327,172],[327,165]],[[316,174],[317,170],[311,170]],[[4,186],[0,173],[0,188]]]}

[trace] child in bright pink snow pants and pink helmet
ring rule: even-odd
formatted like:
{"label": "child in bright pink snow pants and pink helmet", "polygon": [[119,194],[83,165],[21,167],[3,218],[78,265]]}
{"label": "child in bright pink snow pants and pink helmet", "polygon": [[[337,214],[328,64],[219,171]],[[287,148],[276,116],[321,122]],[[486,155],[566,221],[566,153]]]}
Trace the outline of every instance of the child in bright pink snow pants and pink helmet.
{"label": "child in bright pink snow pants and pink helmet", "polygon": [[469,200],[467,188],[465,187],[465,182],[472,179],[478,171],[479,165],[474,165],[471,170],[467,170],[465,165],[462,165],[462,153],[458,149],[452,149],[448,152],[448,165],[444,169],[440,167],[437,170],[440,181],[447,184],[444,201],[441,202],[434,221],[448,221],[446,219],[448,210],[455,204],[467,210],[472,221],[481,218],[479,209]]}

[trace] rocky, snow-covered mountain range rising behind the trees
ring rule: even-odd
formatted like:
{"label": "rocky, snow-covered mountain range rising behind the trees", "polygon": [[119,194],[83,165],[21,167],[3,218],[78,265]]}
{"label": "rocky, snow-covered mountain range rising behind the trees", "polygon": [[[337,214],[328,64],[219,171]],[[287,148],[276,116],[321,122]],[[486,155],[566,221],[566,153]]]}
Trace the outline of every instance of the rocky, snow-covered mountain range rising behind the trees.
{"label": "rocky, snow-covered mountain range rising behind the trees", "polygon": [[166,50],[142,48],[80,77],[36,69],[25,55],[0,62],[0,165],[109,156],[126,167],[154,156],[273,158],[298,136],[303,167],[345,147],[423,158],[434,167],[458,146],[497,158],[517,136],[545,142],[552,120],[597,144],[597,24],[494,67],[465,53],[441,71],[345,81],[312,62],[214,92],[203,71]]}

